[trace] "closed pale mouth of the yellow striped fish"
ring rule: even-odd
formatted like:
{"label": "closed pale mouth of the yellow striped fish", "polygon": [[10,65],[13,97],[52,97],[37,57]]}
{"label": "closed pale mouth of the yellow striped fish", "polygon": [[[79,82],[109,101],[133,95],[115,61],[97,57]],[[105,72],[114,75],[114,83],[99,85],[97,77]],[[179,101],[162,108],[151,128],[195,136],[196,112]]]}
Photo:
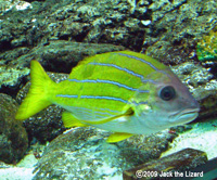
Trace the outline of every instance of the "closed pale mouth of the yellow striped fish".
{"label": "closed pale mouth of the yellow striped fish", "polygon": [[169,116],[169,121],[181,125],[192,121],[199,116],[200,108],[186,108]]}

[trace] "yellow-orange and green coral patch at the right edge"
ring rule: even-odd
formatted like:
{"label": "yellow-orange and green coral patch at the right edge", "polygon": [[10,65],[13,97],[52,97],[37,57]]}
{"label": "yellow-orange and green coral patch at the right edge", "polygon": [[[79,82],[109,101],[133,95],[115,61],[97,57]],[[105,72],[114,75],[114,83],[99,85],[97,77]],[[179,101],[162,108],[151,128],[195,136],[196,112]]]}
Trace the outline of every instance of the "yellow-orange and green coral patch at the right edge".
{"label": "yellow-orange and green coral patch at the right edge", "polygon": [[202,62],[217,60],[217,28],[197,42],[196,54]]}

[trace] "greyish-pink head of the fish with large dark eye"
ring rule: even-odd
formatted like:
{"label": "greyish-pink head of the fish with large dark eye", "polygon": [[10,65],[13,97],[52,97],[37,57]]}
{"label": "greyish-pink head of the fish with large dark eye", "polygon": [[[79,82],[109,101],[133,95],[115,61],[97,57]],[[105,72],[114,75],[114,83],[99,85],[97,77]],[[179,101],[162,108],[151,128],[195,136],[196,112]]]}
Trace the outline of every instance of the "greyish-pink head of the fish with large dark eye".
{"label": "greyish-pink head of the fish with large dark eye", "polygon": [[152,73],[148,79],[140,89],[149,92],[137,92],[133,99],[136,116],[142,124],[158,131],[197,117],[199,103],[170,69]]}

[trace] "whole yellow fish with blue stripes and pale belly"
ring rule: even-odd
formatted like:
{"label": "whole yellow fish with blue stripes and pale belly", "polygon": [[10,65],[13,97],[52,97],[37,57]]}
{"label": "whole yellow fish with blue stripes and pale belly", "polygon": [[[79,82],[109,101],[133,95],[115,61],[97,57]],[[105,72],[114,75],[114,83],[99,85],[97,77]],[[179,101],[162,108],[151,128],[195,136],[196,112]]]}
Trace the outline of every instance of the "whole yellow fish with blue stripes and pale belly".
{"label": "whole yellow fish with blue stripes and pale belly", "polygon": [[93,126],[112,131],[108,143],[190,123],[200,111],[199,102],[168,66],[132,51],[86,57],[59,83],[31,61],[30,81],[17,120],[56,104],[65,110],[66,128]]}

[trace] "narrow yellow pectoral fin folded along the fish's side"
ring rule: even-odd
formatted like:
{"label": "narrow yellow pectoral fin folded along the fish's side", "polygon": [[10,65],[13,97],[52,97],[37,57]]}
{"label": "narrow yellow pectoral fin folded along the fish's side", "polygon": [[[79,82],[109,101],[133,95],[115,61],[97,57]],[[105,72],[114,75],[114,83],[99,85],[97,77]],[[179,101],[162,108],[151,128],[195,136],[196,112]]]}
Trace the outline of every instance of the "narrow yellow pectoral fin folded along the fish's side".
{"label": "narrow yellow pectoral fin folded along the fish's side", "polygon": [[103,118],[103,119],[99,119],[99,120],[80,120],[80,121],[84,121],[84,123],[87,123],[87,124],[90,124],[90,125],[102,125],[102,124],[112,121],[114,119],[117,119],[122,116],[131,116],[131,115],[133,115],[133,113],[135,113],[131,107],[129,107],[125,113],[113,116],[113,117]]}

